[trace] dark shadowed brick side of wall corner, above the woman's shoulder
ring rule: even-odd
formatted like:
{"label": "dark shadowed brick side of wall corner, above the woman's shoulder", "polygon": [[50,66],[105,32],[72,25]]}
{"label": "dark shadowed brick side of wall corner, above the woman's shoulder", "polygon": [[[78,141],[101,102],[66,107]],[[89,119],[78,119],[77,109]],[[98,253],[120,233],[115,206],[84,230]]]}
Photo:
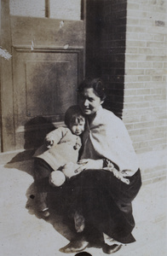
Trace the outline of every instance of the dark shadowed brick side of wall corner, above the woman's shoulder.
{"label": "dark shadowed brick side of wall corner, above the woman's shoulder", "polygon": [[119,117],[122,117],[124,108],[126,7],[124,0],[103,1],[101,76],[107,85],[105,107]]}

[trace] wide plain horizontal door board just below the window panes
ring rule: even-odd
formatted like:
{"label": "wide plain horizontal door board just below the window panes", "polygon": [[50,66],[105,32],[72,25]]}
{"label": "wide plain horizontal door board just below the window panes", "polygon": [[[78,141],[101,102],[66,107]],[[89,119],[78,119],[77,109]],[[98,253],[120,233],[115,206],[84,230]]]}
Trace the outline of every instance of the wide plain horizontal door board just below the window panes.
{"label": "wide plain horizontal door board just below the window panes", "polygon": [[12,42],[14,46],[43,46],[64,49],[83,48],[83,20],[54,20],[32,17],[11,17]]}

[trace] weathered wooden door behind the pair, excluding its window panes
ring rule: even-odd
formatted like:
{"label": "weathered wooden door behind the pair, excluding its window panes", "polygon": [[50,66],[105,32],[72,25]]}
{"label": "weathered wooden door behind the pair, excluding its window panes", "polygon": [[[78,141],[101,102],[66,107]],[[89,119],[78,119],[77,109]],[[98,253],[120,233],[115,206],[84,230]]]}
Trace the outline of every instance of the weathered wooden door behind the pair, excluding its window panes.
{"label": "weathered wooden door behind the pair, excluding its window panes", "polygon": [[[6,12],[7,2],[2,0]],[[10,79],[9,84],[2,79],[3,151],[37,147],[53,124],[62,125],[66,109],[78,103],[84,73],[84,20],[10,15],[9,21],[12,58],[3,60],[2,73]]]}

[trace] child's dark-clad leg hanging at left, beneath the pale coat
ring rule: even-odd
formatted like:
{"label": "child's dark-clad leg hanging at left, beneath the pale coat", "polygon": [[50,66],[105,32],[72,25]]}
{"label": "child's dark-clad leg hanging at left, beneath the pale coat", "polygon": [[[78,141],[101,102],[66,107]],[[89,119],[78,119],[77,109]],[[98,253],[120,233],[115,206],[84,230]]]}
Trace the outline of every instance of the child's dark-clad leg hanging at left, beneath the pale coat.
{"label": "child's dark-clad leg hanging at left, beneath the pale coat", "polygon": [[37,210],[43,212],[44,217],[48,217],[47,195],[49,192],[49,175],[53,169],[42,159],[35,159],[34,167],[34,180],[37,189]]}

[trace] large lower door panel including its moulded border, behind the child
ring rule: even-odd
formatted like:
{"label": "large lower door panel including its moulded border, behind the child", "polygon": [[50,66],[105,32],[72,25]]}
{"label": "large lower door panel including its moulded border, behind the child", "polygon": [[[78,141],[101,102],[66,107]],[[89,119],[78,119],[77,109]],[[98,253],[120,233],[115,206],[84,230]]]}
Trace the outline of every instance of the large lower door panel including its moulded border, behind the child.
{"label": "large lower door panel including its moulded border, behind the child", "polygon": [[[80,51],[31,52],[14,49],[14,130],[15,145],[23,145],[26,124],[44,117],[46,122],[64,120],[66,109],[78,104],[78,60]],[[41,125],[41,124],[40,124]],[[46,128],[46,124],[43,124]],[[34,129],[29,125],[28,129]],[[35,132],[35,131],[34,131]],[[31,138],[30,138],[31,139]],[[27,140],[27,137],[26,137]]]}

